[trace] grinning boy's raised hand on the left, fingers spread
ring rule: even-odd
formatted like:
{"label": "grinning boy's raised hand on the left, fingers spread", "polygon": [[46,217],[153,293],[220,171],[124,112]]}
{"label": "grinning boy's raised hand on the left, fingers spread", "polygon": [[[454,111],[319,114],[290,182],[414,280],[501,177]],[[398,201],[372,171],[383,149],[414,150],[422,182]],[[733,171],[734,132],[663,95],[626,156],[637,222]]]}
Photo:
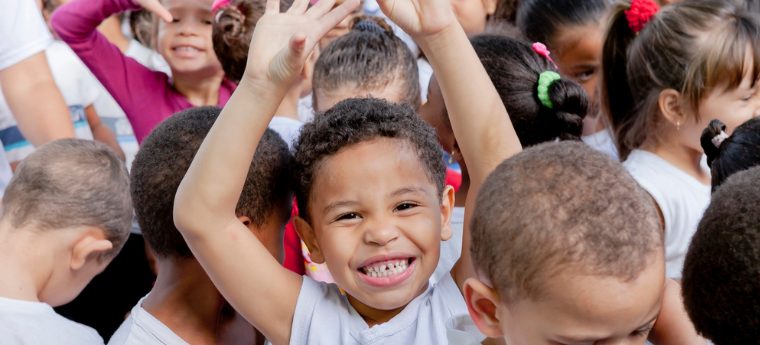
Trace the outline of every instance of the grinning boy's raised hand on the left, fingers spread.
{"label": "grinning boy's raised hand on the left, fingers spread", "polygon": [[289,87],[322,36],[351,14],[359,0],[347,0],[333,8],[334,3],[320,0],[308,8],[309,0],[295,0],[287,12],[280,13],[279,0],[268,0],[251,38],[243,80]]}

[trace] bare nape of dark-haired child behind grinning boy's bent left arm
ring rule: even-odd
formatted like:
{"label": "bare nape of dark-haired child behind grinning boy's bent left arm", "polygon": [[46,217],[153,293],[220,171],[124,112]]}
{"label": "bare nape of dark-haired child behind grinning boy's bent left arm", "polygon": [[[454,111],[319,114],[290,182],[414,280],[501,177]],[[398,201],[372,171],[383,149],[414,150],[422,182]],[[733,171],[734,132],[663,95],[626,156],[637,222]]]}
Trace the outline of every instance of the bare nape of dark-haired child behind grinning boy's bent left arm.
{"label": "bare nape of dark-haired child behind grinning boy's bent left arm", "polygon": [[160,258],[142,307],[190,344],[251,344],[256,338],[193,258]]}

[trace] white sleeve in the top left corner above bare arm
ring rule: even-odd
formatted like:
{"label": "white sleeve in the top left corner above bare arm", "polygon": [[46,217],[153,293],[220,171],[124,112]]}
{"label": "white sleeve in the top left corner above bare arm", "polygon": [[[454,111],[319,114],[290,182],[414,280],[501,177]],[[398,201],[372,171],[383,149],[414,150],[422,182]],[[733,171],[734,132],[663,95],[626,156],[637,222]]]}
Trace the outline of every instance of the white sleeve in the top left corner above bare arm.
{"label": "white sleeve in the top left corner above bare arm", "polygon": [[53,41],[34,0],[0,0],[0,70],[37,54]]}

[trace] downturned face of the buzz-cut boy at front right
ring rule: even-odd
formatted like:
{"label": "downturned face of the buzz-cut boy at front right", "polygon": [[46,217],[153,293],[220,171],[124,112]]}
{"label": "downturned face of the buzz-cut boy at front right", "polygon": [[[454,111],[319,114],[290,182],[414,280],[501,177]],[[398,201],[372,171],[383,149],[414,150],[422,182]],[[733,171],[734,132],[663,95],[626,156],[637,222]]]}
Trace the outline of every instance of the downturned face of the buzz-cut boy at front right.
{"label": "downturned face of the buzz-cut boy at front right", "polygon": [[510,345],[644,344],[665,286],[662,255],[650,261],[631,281],[571,269],[553,275],[538,300],[497,301],[489,336]]}

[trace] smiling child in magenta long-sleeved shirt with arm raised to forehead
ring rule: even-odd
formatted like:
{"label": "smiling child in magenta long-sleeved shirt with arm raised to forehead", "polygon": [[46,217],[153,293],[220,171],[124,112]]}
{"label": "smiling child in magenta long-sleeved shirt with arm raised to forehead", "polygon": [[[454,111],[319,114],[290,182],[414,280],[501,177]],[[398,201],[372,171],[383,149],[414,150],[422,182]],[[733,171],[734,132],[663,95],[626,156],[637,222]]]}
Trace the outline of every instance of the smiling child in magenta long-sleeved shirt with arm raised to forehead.
{"label": "smiling child in magenta long-sleeved shirt with arm raised to forehead", "polygon": [[[155,11],[155,49],[171,77],[127,58],[97,31],[106,18],[127,10]],[[162,120],[202,105],[224,105],[235,83],[224,78],[211,42],[211,1],[74,0],[51,25],[124,110],[140,143]]]}

